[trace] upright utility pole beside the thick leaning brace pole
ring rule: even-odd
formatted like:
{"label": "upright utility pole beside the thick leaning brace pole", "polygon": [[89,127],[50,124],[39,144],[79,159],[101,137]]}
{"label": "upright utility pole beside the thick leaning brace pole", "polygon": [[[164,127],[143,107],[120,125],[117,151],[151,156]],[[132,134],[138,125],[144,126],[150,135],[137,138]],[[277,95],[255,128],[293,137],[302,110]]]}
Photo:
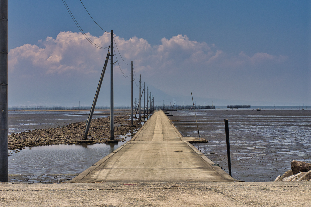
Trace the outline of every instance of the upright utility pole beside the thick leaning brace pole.
{"label": "upright utility pole beside the thick leaning brace pole", "polygon": [[110,34],[110,140],[114,140],[114,32]]}

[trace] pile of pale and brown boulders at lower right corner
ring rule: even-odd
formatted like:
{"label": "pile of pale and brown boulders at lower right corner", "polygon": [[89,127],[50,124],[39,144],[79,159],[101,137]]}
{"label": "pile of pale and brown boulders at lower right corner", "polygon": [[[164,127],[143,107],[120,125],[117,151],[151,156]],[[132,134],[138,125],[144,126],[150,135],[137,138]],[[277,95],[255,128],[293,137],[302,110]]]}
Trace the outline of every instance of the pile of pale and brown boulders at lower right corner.
{"label": "pile of pale and brown boulders at lower right corner", "polygon": [[293,160],[290,167],[291,170],[277,176],[275,181],[311,181],[311,163]]}

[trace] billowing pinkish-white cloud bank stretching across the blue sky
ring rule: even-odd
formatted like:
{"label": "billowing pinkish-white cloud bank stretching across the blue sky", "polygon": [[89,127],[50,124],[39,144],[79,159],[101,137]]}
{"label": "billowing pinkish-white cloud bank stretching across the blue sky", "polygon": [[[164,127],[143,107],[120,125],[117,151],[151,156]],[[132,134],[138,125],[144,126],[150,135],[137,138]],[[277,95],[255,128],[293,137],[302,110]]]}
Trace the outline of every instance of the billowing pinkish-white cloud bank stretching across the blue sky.
{"label": "billowing pinkish-white cloud bank stretching across the blue sky", "polygon": [[[100,37],[88,37],[101,47],[109,46],[110,35],[104,33]],[[287,57],[256,53],[248,56],[241,52],[229,57],[215,45],[189,40],[186,35],[177,35],[170,39],[163,38],[162,45],[151,46],[147,40],[132,37],[129,40],[115,36],[118,50],[126,62],[133,60],[139,71],[163,70],[168,73],[183,71],[182,65],[200,67],[251,67],[260,64],[277,64]],[[115,48],[116,50],[116,48]],[[117,51],[117,50],[116,50]],[[27,72],[39,74],[63,74],[67,72],[93,73],[101,66],[106,52],[94,48],[81,33],[60,32],[56,39],[47,37],[40,40],[39,45],[22,45],[11,49],[9,53],[10,72]],[[117,57],[119,54],[116,54]],[[122,60],[119,57],[119,61]],[[21,65],[32,66],[24,70]],[[24,69],[22,69],[24,68]],[[30,69],[30,68],[27,68]]]}

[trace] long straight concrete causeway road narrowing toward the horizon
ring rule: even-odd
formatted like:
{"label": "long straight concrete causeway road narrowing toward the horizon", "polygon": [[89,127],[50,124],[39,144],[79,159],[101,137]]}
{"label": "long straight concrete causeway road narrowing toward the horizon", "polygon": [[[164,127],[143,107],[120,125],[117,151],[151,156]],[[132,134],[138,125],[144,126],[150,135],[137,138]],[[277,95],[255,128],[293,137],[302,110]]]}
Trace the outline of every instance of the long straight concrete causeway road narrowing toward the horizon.
{"label": "long straight concrete causeway road narrowing toward the horizon", "polygon": [[163,111],[135,136],[69,182],[237,181],[183,138]]}

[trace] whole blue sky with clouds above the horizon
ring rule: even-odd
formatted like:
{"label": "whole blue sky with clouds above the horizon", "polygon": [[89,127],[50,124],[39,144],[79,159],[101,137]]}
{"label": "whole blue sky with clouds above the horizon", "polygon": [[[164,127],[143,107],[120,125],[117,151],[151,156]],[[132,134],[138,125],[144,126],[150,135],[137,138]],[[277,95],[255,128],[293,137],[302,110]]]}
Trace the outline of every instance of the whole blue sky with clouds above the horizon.
{"label": "whole blue sky with clouds above the horizon", "polygon": [[[141,74],[159,105],[191,92],[197,105],[311,105],[310,1],[81,1],[114,32],[115,106],[131,104],[131,61],[134,100]],[[81,1],[66,3],[109,46]],[[63,0],[10,0],[8,20],[9,106],[91,106],[108,49]],[[110,61],[97,101],[109,105]]]}

